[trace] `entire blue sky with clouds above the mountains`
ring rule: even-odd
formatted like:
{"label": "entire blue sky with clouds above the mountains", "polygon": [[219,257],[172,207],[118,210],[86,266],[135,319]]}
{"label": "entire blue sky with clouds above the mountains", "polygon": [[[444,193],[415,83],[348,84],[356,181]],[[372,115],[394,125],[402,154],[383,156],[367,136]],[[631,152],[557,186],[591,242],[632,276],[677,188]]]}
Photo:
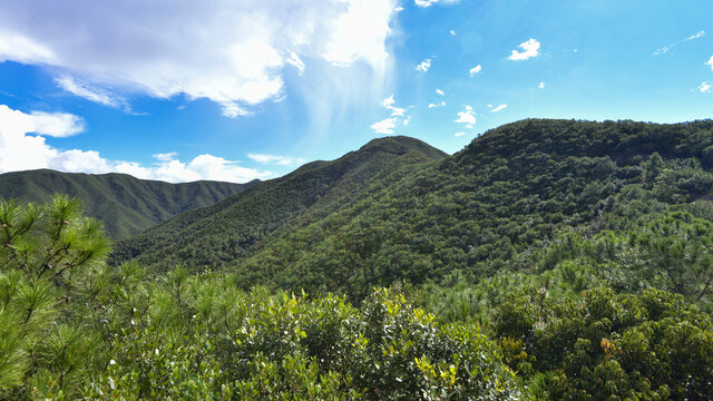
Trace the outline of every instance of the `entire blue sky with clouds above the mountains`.
{"label": "entire blue sky with clouds above the mountains", "polygon": [[244,183],[525,118],[713,117],[710,0],[0,1],[0,173]]}

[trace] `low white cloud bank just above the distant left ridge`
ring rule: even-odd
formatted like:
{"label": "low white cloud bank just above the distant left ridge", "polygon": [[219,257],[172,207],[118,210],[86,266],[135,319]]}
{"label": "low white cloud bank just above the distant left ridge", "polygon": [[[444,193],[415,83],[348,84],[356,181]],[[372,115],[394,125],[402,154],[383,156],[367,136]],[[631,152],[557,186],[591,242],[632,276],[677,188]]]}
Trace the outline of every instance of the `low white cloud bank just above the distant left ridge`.
{"label": "low white cloud bank just above the distant left ridge", "polygon": [[199,155],[189,163],[182,163],[175,159],[176,153],[156,154],[154,157],[159,163],[149,167],[136,162],[113,162],[96,150],[55,148],[41,136],[66,137],[77,134],[81,130],[77,121],[81,119],[74,115],[26,114],[0,105],[0,173],[37,168],[94,174],[116,172],[174,183],[197,179],[243,183],[272,175],[213,155]]}

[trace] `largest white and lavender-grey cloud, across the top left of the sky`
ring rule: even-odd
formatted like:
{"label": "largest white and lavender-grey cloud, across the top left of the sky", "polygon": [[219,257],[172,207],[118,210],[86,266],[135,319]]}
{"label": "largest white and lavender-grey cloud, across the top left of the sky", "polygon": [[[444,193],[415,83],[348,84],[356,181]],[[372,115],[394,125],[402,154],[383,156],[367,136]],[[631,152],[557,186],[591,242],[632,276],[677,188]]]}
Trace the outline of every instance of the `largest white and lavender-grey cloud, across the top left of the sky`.
{"label": "largest white and lavender-grey cloud, across the top left of the sky", "polygon": [[282,98],[283,69],[302,72],[309,68],[303,59],[334,66],[361,60],[383,72],[397,6],[397,0],[4,1],[0,61],[50,66],[60,77],[75,78],[74,88],[72,81],[60,81],[67,90],[111,107],[116,98],[97,87],[207,98],[236,117]]}

